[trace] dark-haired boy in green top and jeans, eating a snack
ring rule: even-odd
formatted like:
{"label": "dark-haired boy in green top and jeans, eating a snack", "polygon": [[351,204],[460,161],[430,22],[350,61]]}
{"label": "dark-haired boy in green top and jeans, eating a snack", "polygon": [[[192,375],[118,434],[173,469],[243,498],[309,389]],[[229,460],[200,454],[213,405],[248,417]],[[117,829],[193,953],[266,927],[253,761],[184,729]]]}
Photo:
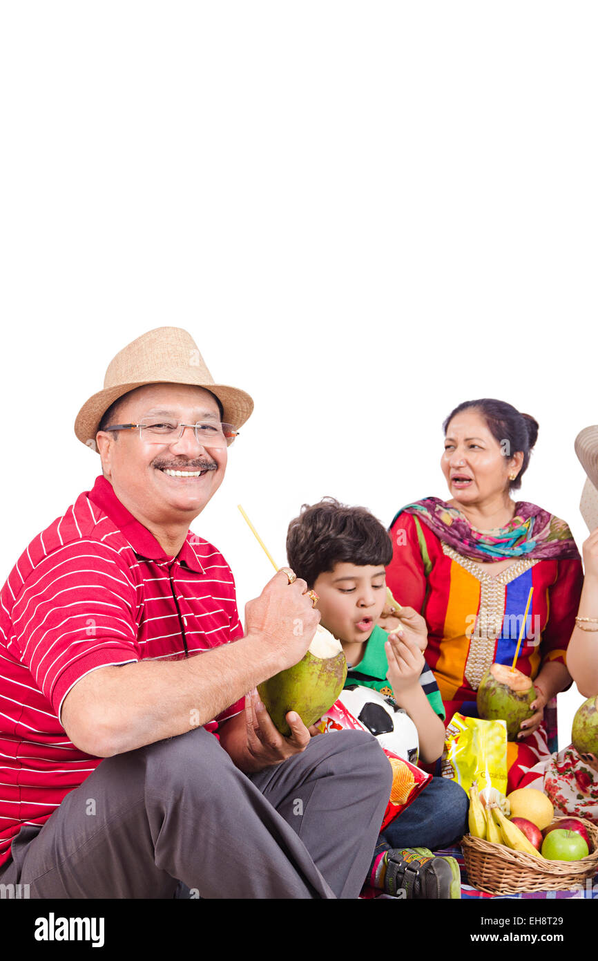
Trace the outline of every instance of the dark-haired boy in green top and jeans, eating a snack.
{"label": "dark-haired boy in green top and jeans, eating a snack", "polygon": [[[316,592],[323,627],[343,645],[345,686],[357,682],[392,694],[418,729],[421,760],[432,763],[443,752],[444,709],[423,656],[425,621],[413,608],[401,607],[400,628],[393,633],[377,623],[387,604],[385,566],[392,554],[387,531],[368,510],[333,498],[304,505],[289,525],[289,565]],[[428,849],[466,833],[467,809],[463,788],[434,777],[380,836],[368,881],[408,898],[459,898],[456,862]]]}

